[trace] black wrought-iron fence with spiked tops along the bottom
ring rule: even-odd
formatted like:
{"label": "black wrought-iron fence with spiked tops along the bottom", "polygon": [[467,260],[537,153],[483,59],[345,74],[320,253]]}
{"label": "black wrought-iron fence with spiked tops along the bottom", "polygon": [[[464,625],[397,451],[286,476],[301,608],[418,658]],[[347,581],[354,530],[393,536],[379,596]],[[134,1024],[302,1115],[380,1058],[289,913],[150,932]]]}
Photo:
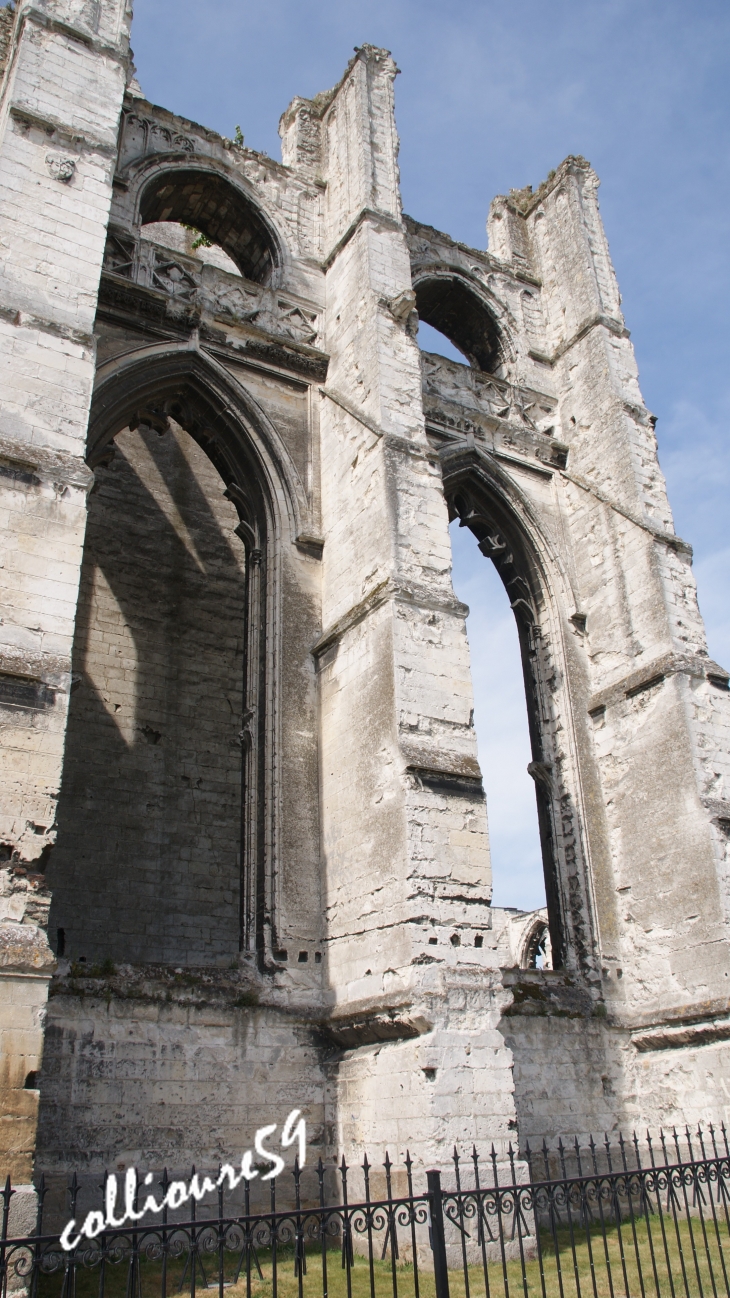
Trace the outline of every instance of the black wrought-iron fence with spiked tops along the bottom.
{"label": "black wrought-iron fence with spiked tops along the bottom", "polygon": [[[195,1172],[195,1169],[194,1169]],[[13,1237],[9,1180],[1,1195],[0,1298],[718,1298],[730,1294],[730,1150],[709,1125],[653,1140],[574,1141],[503,1160],[457,1151],[446,1171],[395,1167],[292,1171],[265,1186],[197,1177],[177,1220],[166,1173],[96,1205],[68,1189],[64,1247],[44,1227],[47,1188],[32,1199],[35,1231]],[[216,1184],[220,1182],[220,1184]],[[190,1179],[188,1179],[190,1184]],[[266,1203],[252,1203],[251,1185]],[[162,1203],[122,1225],[125,1208]],[[116,1207],[116,1203],[120,1203]],[[173,1205],[173,1206],[170,1206]],[[114,1211],[118,1214],[114,1218]],[[88,1215],[91,1212],[91,1216]],[[17,1212],[16,1212],[17,1216]],[[84,1225],[86,1223],[86,1225]],[[87,1229],[86,1236],[81,1228]]]}

